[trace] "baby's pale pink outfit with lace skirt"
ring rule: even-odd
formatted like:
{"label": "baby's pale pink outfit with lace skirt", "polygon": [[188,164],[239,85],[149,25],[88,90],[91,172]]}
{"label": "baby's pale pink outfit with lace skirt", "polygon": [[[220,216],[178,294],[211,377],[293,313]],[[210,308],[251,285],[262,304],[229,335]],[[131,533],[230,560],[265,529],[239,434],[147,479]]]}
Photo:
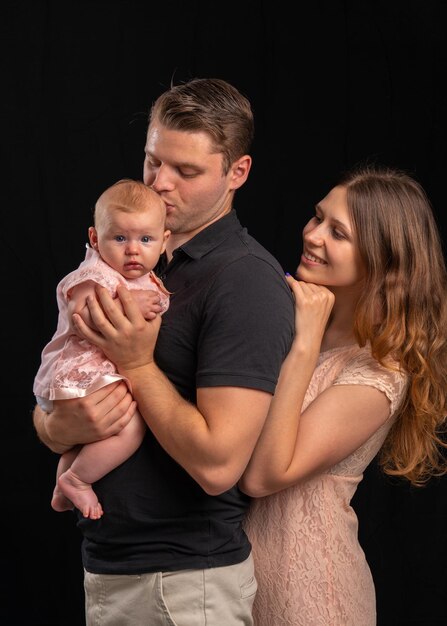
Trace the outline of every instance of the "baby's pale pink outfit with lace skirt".
{"label": "baby's pale pink outfit with lace skirt", "polygon": [[70,291],[88,280],[106,287],[112,296],[115,296],[119,283],[128,289],[155,290],[160,294],[162,313],[169,306],[169,293],[153,272],[140,278],[126,279],[87,245],[84,261],[57,286],[58,324],[51,341],[42,351],[41,365],[34,379],[34,394],[46,411],[51,410],[53,400],[85,396],[105,385],[123,380],[123,376],[118,374],[115,365],[102,350],[73,335],[70,329]]}

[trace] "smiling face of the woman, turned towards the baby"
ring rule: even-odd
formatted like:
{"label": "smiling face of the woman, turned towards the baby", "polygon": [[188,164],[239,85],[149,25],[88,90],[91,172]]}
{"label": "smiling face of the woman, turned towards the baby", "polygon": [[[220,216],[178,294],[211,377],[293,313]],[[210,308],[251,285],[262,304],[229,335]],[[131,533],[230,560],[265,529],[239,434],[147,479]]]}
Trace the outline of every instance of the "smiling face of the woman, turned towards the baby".
{"label": "smiling face of the woman, turned towards the baby", "polygon": [[315,207],[303,230],[303,254],[297,278],[330,288],[360,288],[360,259],[346,201],[346,188],[334,187]]}

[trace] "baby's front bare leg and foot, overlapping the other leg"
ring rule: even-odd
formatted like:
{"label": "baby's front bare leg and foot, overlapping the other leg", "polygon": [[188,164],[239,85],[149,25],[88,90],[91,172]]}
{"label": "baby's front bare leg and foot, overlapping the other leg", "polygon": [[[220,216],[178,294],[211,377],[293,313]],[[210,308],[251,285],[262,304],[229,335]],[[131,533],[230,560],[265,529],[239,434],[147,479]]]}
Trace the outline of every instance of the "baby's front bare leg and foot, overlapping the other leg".
{"label": "baby's front bare leg and foot, overlapping the other leg", "polygon": [[146,424],[138,411],[118,434],[84,445],[71,466],[59,476],[58,486],[84,517],[99,519],[102,506],[92,484],[121,465],[140,446]]}

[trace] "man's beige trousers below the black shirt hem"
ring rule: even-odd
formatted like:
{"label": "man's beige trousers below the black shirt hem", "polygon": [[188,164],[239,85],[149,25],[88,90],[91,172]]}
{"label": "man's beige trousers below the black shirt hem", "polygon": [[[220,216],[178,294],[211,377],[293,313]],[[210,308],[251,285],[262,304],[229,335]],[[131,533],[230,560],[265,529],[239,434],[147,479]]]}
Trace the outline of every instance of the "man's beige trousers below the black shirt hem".
{"label": "man's beige trousers below the black shirt hem", "polygon": [[87,626],[252,626],[253,559],[227,567],[84,573]]}

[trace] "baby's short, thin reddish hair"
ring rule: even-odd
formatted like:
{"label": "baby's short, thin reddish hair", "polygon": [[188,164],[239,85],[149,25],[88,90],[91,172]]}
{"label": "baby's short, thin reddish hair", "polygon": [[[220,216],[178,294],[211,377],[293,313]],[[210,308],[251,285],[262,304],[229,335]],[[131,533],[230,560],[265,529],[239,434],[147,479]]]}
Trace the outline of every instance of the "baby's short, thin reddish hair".
{"label": "baby's short, thin reddish hair", "polygon": [[93,213],[94,223],[98,227],[104,215],[110,211],[139,213],[155,208],[165,216],[165,204],[153,189],[142,181],[122,178],[99,196]]}

